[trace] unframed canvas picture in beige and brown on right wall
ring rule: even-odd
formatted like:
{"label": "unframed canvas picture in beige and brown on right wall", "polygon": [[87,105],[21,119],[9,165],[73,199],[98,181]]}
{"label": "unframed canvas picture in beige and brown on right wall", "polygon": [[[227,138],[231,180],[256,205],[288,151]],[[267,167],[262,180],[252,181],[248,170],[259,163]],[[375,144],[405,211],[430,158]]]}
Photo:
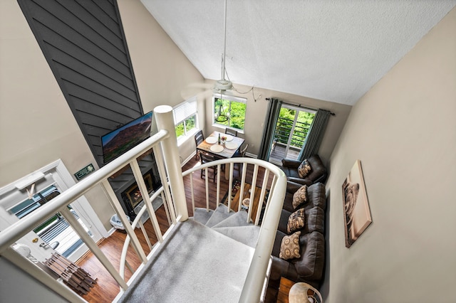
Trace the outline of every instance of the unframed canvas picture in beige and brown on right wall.
{"label": "unframed canvas picture in beige and brown on right wall", "polygon": [[356,160],[343,181],[342,197],[345,243],[346,248],[350,248],[372,223],[360,160]]}

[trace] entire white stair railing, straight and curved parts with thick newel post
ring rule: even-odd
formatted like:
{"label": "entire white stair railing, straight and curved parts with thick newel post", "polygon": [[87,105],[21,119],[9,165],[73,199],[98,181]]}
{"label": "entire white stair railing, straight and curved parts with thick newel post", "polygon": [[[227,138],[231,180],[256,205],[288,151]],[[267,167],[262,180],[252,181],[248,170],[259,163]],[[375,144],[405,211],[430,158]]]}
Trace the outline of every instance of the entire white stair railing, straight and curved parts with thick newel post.
{"label": "entire white stair railing, straight and curved parts with thick newel post", "polygon": [[[149,243],[150,247],[152,247],[152,251],[148,256],[145,255],[145,251],[142,249],[142,246],[140,245],[138,237],[134,231],[134,228],[139,224],[139,221],[133,222],[133,225],[130,224],[127,216],[123,211],[122,206],[120,205],[120,202],[118,201],[118,198],[115,196],[113,188],[108,182],[108,178],[110,176],[120,171],[120,169],[123,169],[123,167],[130,165],[138,187],[140,188],[143,200],[145,201],[145,207],[141,211],[145,212],[147,210],[149,213],[152,226],[157,236],[157,243],[155,243],[155,246],[158,246],[163,242],[163,239],[167,237],[167,234],[170,233],[170,230],[175,227],[177,222],[185,221],[188,218],[187,202],[185,201],[185,189],[183,187],[182,176],[185,177],[193,174],[199,169],[207,169],[209,166],[217,165],[217,196],[219,196],[221,166],[224,164],[227,166],[226,169],[228,169],[229,166],[230,185],[228,197],[230,197],[230,193],[232,192],[231,184],[234,163],[243,164],[242,181],[245,180],[247,164],[253,164],[254,174],[252,184],[256,184],[257,182],[258,170],[260,167],[266,170],[266,177],[264,179],[269,179],[268,174],[274,174],[273,181],[270,184],[271,192],[269,194],[269,199],[266,204],[266,211],[261,223],[261,230],[259,232],[257,246],[254,251],[254,257],[252,259],[251,266],[249,267],[247,279],[242,290],[242,295],[239,299],[239,302],[258,302],[264,286],[264,277],[266,276],[267,267],[269,265],[276,228],[279,223],[281,207],[284,201],[286,191],[286,176],[281,171],[281,169],[279,169],[277,166],[274,166],[274,164],[270,164],[266,161],[261,161],[258,159],[248,158],[217,160],[209,164],[204,164],[202,166],[192,168],[182,174],[178,161],[179,156],[177,145],[175,144],[176,139],[174,123],[172,121],[172,109],[171,107],[167,106],[163,108],[155,107],[154,111],[155,115],[157,115],[158,129],[161,129],[157,132],[157,134],[145,140],[145,142],[142,142],[137,147],[133,147],[133,149],[125,152],[125,154],[119,156],[117,159],[111,161],[109,164],[106,164],[89,176],[86,176],[86,178],[79,181],[78,184],[75,184],[74,186],[71,186],[71,188],[68,188],[66,191],[63,191],[63,193],[61,193],[59,196],[53,198],[52,201],[49,201],[45,205],[41,206],[38,210],[31,213],[29,216],[26,216],[25,218],[19,220],[9,228],[1,230],[0,256],[5,257],[7,260],[16,265],[16,267],[24,270],[24,272],[28,272],[31,277],[35,278],[43,285],[46,285],[49,289],[53,290],[53,292],[60,294],[64,299],[67,299],[70,302],[86,302],[69,287],[66,287],[66,285],[63,285],[63,283],[58,282],[53,277],[51,277],[51,275],[48,275],[46,272],[41,270],[33,262],[28,261],[28,259],[22,257],[16,251],[10,248],[11,245],[14,245],[16,240],[23,237],[26,233],[28,233],[29,230],[32,230],[44,219],[53,215],[53,213],[60,211],[62,216],[66,218],[68,223],[73,227],[76,233],[78,233],[83,242],[86,243],[90,251],[93,252],[93,255],[95,255],[95,257],[100,260],[100,263],[103,265],[103,267],[108,270],[109,274],[118,283],[122,289],[120,293],[122,293],[128,289],[128,286],[134,280],[135,275],[141,270],[142,266],[144,266],[153,257],[155,247]],[[166,129],[170,129],[170,132]],[[150,149],[153,149],[154,151],[162,184],[169,184],[169,186],[162,186],[162,189],[156,191],[152,196],[149,196],[149,193],[147,192],[147,187],[145,186],[145,181],[142,177],[137,160],[140,156],[142,156],[142,154],[145,154],[145,152],[149,151]],[[192,176],[190,176],[190,178],[192,178]],[[98,248],[97,244],[86,233],[86,230],[83,228],[83,226],[78,222],[78,220],[76,220],[71,211],[69,211],[66,207],[79,197],[83,196],[83,194],[89,191],[91,188],[100,186],[100,184],[105,189],[105,192],[110,198],[111,205],[115,209],[116,213],[118,213],[118,217],[122,221],[123,226],[125,227],[125,231],[128,233],[130,243],[126,245],[125,250],[128,249],[128,245],[132,245],[142,262],[142,265],[136,270],[135,274],[130,278],[130,280],[128,280],[128,283],[125,282],[125,279],[123,278],[123,270],[121,270],[122,275],[120,275],[120,272],[115,269],[109,258],[102,252],[102,250],[100,250],[100,248]],[[205,187],[208,188],[207,181]],[[266,188],[266,186],[263,187]],[[193,188],[191,188],[191,191],[193,191]],[[159,194],[162,195],[162,197],[164,196],[163,201],[165,207],[167,208],[167,216],[170,223],[170,228],[168,228],[164,234],[161,233],[160,225],[158,224],[157,218],[155,216],[155,211],[153,210],[151,203],[151,199],[154,199]],[[252,191],[251,195],[254,196],[255,194],[258,193]],[[264,196],[263,188],[259,194],[261,196]],[[208,191],[206,193],[206,198],[207,208],[209,208]],[[217,198],[217,204],[219,203],[218,199],[219,198]],[[192,201],[192,205],[195,205],[194,201]],[[138,214],[138,220],[140,220],[141,215],[142,213]],[[144,233],[143,228],[142,230]],[[126,262],[123,264],[128,267],[128,265],[126,265]]]}

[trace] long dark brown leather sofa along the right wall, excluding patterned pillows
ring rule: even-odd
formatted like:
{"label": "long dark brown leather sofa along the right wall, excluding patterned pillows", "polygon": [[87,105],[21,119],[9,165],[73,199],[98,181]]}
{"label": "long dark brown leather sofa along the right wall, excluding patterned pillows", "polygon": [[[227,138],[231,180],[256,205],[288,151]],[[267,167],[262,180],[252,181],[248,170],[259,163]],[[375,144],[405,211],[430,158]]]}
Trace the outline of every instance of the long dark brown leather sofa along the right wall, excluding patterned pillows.
{"label": "long dark brown leather sofa along the right wall, excluding patterned pillows", "polygon": [[[307,202],[294,209],[293,194],[301,184],[288,182],[284,207],[281,211],[276,240],[272,250],[271,275],[266,291],[266,302],[276,302],[281,277],[294,282],[306,282],[318,288],[323,280],[325,267],[325,211],[326,188],[323,183],[312,184],[307,187]],[[304,227],[300,229],[299,245],[301,257],[284,260],[279,257],[282,238],[287,233],[287,223],[291,213],[304,208]]]}

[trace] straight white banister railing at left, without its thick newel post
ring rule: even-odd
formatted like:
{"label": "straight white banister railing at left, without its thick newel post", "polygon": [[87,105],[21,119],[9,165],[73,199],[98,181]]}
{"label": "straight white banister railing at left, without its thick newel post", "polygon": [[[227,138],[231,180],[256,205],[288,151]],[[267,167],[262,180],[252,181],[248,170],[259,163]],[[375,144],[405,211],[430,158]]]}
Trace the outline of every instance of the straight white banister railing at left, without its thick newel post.
{"label": "straight white banister railing at left, without its thick newel post", "polygon": [[[118,201],[118,198],[115,196],[113,188],[108,183],[108,178],[116,172],[123,169],[127,165],[130,165],[133,171],[135,171],[135,169],[138,169],[137,158],[139,156],[142,156],[142,154],[145,154],[145,152],[149,151],[151,148],[158,150],[157,144],[160,144],[160,142],[166,140],[169,137],[170,136],[167,130],[160,130],[159,132],[157,132],[157,134],[145,140],[145,142],[142,142],[137,147],[130,149],[129,151],[125,152],[125,154],[119,156],[117,159],[113,160],[109,164],[106,164],[101,169],[98,169],[98,171],[95,171],[89,176],[86,176],[86,178],[79,181],[78,184],[75,184],[74,186],[68,188],[66,191],[63,191],[56,198],[53,198],[52,201],[49,201],[48,203],[38,208],[36,211],[33,211],[33,213],[29,214],[24,218],[21,218],[21,220],[17,221],[8,228],[1,230],[0,255],[2,257],[5,257],[7,260],[9,260],[22,270],[31,273],[33,277],[36,277],[38,280],[43,282],[43,284],[58,292],[58,294],[61,294],[61,296],[65,299],[68,299],[68,301],[85,302],[84,299],[82,299],[73,291],[71,291],[71,289],[63,285],[63,283],[57,282],[53,277],[48,275],[46,272],[40,270],[35,264],[33,264],[33,262],[27,262],[27,260],[25,260],[23,257],[17,256],[16,252],[9,248],[10,245],[16,242],[16,240],[22,238],[24,235],[26,235],[26,233],[35,228],[36,225],[39,225],[41,222],[43,222],[43,220],[46,220],[46,218],[49,218],[53,216],[55,213],[60,212],[62,216],[66,218],[71,227],[76,231],[76,233],[78,233],[78,235],[81,237],[81,240],[83,240],[83,242],[86,243],[90,251],[93,252],[93,255],[95,255],[95,257],[97,257],[98,260],[100,260],[101,264],[106,268],[106,270],[108,270],[108,272],[115,279],[115,281],[118,282],[118,285],[122,289],[127,289],[128,285],[125,282],[125,280],[123,280],[123,277],[120,277],[114,265],[110,262],[110,260],[108,260],[108,257],[104,255],[100,248],[98,248],[93,239],[90,238],[90,236],[88,236],[83,226],[77,220],[74,219],[73,215],[69,213],[69,211],[67,211],[66,206],[68,206],[70,203],[72,203],[79,197],[83,196],[83,194],[89,191],[91,188],[98,186],[98,184],[103,184],[106,193],[108,193],[108,196],[110,197],[110,203],[112,204],[116,213],[118,213],[120,220],[124,224],[125,230],[130,235],[133,247],[138,253],[140,260],[142,260],[143,263],[147,262],[145,252],[144,250],[142,250],[140,242],[136,237],[134,230],[131,227],[130,222],[128,221],[128,218],[126,217],[122,206],[120,206],[120,202]],[[162,169],[162,171],[164,170]],[[145,191],[145,193],[147,193],[147,189],[145,189],[146,187],[142,175],[136,173],[135,179],[139,184],[140,191]],[[145,204],[150,206],[150,209],[152,209],[150,198],[147,199],[148,194],[143,195],[143,197],[145,196]],[[169,198],[169,201],[171,201],[169,193],[167,198]],[[170,206],[170,208],[172,207]],[[153,213],[151,217],[155,215],[153,211],[150,213]],[[155,222],[157,222],[156,218]],[[158,230],[160,231],[160,228],[158,228]]]}

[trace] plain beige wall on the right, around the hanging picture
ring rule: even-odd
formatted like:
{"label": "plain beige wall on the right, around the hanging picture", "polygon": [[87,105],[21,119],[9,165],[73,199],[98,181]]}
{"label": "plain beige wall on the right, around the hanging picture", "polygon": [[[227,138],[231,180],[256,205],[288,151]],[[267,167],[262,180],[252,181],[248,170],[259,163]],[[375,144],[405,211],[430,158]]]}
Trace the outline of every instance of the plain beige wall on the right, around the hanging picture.
{"label": "plain beige wall on the right, around the hanging picture", "polygon": [[[326,302],[455,302],[456,9],[357,102],[326,183]],[[361,160],[373,223],[345,248],[343,180]]]}

